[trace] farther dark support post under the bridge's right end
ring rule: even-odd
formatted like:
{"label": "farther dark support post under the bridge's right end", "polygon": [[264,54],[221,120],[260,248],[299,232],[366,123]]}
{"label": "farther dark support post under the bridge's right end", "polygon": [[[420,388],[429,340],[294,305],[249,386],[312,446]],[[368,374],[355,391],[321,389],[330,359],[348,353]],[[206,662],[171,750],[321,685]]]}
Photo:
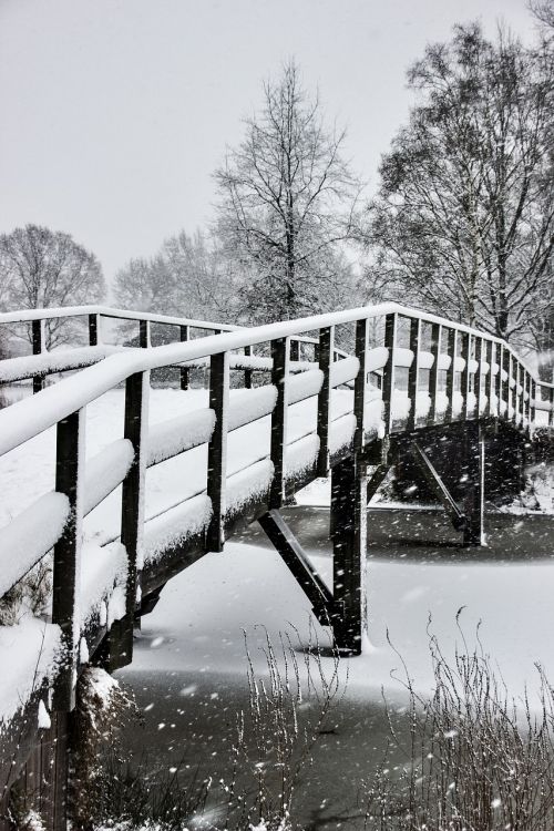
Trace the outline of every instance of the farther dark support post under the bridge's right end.
{"label": "farther dark support post under the bridge's right end", "polygon": [[465,439],[464,545],[484,544],[484,432],[468,424]]}

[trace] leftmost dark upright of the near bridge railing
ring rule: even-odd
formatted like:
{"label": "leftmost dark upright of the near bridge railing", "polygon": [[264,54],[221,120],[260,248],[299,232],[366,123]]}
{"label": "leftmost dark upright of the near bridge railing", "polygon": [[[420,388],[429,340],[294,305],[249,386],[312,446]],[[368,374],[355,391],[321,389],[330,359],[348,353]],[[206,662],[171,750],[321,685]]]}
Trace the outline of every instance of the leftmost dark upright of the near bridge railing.
{"label": "leftmost dark upright of the near bridge railing", "polygon": [[52,576],[52,623],[62,632],[63,666],[55,678],[53,709],[72,710],[80,635],[79,592],[81,579],[82,500],[80,460],[84,459],[85,410],[58,422],[55,490],[69,500],[70,514],[62,536],[54,545]]}

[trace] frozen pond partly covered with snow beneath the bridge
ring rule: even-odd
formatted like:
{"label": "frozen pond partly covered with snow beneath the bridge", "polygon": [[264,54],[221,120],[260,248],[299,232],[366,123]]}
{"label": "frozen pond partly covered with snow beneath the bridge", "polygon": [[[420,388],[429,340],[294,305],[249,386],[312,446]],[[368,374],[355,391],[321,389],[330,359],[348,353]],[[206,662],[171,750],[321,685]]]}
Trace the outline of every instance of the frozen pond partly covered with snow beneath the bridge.
{"label": "frozen pond partly covered with snow beneath the bridge", "polygon": [[[287,519],[324,577],[331,571],[328,512],[300,506]],[[495,514],[486,520],[490,545],[463,550],[440,512],[372,510],[369,514],[367,654],[342,660],[347,693],[316,748],[301,783],[307,828],[361,828],[359,782],[389,738],[381,687],[406,728],[402,687],[390,637],[418,688],[430,688],[427,625],[445,652],[460,644],[455,615],[470,647],[481,639],[514,695],[533,688],[541,661],[554,677],[554,517]],[[264,625],[274,642],[296,627],[307,638],[309,606],[258,526],[173,579],[155,611],[143,618],[133,665],[120,676],[144,712],[131,743],[153,769],[184,761],[202,774],[228,771],[235,718],[247,706],[246,629],[261,671]],[[325,633],[320,632],[321,638]],[[327,659],[330,667],[330,659]],[[550,671],[548,671],[550,670]],[[314,824],[310,825],[309,822]]]}

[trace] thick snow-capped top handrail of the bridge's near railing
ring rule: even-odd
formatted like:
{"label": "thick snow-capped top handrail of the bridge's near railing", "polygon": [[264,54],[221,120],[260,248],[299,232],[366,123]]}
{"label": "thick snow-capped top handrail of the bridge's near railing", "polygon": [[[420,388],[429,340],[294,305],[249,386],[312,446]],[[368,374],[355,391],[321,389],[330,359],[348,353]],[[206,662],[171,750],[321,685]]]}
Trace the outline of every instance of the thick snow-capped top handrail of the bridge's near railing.
{"label": "thick snow-capped top handrail of the bridge's near railing", "polygon": [[207,336],[183,343],[137,349],[126,355],[113,355],[107,357],[102,363],[83,369],[78,376],[63,379],[55,387],[42,390],[32,399],[23,399],[2,410],[0,412],[0,455],[52,427],[72,412],[85,407],[134,373],[233,351],[247,346],[256,346],[271,340],[294,337],[305,331],[394,314],[412,317],[424,322],[441,324],[445,328],[485,338],[493,343],[502,343],[504,350],[515,356],[522,366],[525,367],[537,386],[550,389],[554,388],[553,384],[540,381],[534,371],[517,358],[512,347],[499,338],[480,332],[462,324],[453,324],[435,315],[428,315],[427,312],[410,309],[394,302],[387,302],[315,315],[297,320],[267,324],[250,329],[237,329],[223,335]]}

